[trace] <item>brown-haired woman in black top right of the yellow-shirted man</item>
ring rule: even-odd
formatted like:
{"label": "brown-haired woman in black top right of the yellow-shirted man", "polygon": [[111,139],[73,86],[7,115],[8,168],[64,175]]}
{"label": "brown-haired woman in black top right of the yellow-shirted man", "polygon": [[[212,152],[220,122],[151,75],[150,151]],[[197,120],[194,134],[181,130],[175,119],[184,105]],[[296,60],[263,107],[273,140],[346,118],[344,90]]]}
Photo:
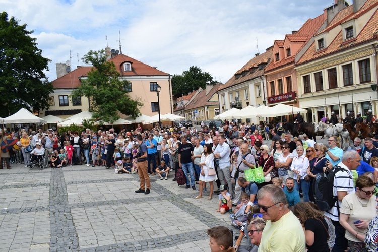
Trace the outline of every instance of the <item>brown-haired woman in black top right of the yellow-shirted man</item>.
{"label": "brown-haired woman in black top right of the yellow-shirted man", "polygon": [[318,206],[312,202],[299,202],[293,207],[293,214],[304,227],[307,251],[330,251],[328,224]]}

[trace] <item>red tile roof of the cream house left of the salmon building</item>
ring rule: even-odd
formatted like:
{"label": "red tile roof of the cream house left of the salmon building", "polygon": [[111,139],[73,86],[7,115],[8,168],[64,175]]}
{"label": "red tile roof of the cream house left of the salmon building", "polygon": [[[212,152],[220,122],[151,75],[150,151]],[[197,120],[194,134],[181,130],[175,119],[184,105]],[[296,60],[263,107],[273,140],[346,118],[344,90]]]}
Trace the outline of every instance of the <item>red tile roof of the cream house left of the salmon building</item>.
{"label": "red tile roof of the cream house left of the salmon building", "polygon": [[253,80],[259,76],[264,75],[264,69],[259,69],[258,65],[264,63],[268,64],[267,66],[269,66],[269,62],[271,61],[271,58],[273,56],[272,49],[273,47],[271,46],[267,49],[266,52],[257,55],[254,58],[251,58],[239,71],[236,72],[241,73],[241,70],[243,69],[249,70],[251,68],[257,68],[253,73],[247,73],[245,76],[240,76],[238,79],[236,79],[235,76],[232,76],[231,79],[229,79],[224,85],[219,85],[218,91],[238,85],[249,80]]}

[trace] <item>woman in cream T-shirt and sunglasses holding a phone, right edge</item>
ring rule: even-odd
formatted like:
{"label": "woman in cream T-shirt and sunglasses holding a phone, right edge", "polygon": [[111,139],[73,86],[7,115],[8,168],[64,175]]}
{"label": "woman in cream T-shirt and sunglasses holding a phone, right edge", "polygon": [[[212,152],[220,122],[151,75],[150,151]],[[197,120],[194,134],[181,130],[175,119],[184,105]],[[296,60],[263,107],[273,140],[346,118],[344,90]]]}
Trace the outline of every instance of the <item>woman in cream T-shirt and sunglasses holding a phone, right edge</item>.
{"label": "woman in cream T-shirt and sunglasses holding a phone, right edge", "polygon": [[349,251],[367,251],[364,244],[369,222],[377,216],[374,181],[367,176],[356,180],[356,192],[343,198],[340,224],[345,228]]}

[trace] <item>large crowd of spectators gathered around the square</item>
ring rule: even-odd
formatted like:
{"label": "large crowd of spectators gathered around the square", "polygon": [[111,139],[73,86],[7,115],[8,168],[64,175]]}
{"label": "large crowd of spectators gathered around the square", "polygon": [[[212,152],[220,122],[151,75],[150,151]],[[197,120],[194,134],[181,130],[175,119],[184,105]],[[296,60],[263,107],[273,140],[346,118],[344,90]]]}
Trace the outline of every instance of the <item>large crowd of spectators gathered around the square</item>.
{"label": "large crowd of spectators gathered around the square", "polygon": [[[8,152],[9,157],[2,153],[2,158],[8,160],[7,167],[22,162],[28,166],[34,161],[32,154],[49,155],[50,167],[84,163],[114,168],[115,173],[138,172],[140,186],[135,192],[146,195],[152,190],[150,176],[175,181],[182,169],[184,188],[198,190],[195,199],[208,193],[211,201],[219,195],[215,211],[229,214],[230,227],[240,230],[231,245],[232,237],[225,238],[228,228],[210,229],[212,251],[376,251],[376,139],[366,138],[362,144],[356,138],[344,153],[336,136],[329,137],[326,146],[306,135],[292,139],[281,127],[280,123],[270,128],[226,122],[200,131],[161,129],[159,124],[151,130],[138,124],[135,130],[118,133],[24,130],[4,135],[3,140],[19,138],[19,150]],[[263,143],[270,138],[270,146]],[[264,182],[247,179],[246,172],[258,167]],[[314,182],[318,174],[335,167],[336,200],[324,212],[314,204]]]}

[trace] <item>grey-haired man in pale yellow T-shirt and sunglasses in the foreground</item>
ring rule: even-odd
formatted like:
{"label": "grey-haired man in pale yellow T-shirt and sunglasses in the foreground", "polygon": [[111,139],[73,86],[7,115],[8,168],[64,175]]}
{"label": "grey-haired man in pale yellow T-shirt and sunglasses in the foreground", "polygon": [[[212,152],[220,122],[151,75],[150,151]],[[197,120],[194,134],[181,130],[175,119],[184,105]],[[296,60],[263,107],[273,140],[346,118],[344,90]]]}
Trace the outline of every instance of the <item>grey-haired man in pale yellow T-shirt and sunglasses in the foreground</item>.
{"label": "grey-haired man in pale yellow T-shirt and sunglasses in the foreground", "polygon": [[258,206],[267,221],[261,237],[259,252],[304,252],[306,241],[297,217],[286,207],[283,190],[266,185],[257,194]]}

